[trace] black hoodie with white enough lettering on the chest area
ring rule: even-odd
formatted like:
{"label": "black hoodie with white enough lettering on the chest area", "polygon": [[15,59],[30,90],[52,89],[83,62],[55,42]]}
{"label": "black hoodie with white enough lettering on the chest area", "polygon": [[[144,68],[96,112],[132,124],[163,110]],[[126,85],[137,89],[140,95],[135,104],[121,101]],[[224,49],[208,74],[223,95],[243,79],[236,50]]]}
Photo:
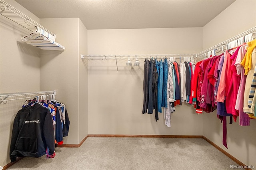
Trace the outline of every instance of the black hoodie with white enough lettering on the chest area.
{"label": "black hoodie with white enough lettering on the chest area", "polygon": [[49,148],[54,154],[54,128],[50,110],[35,103],[18,111],[12,129],[10,160],[17,156],[40,157]]}

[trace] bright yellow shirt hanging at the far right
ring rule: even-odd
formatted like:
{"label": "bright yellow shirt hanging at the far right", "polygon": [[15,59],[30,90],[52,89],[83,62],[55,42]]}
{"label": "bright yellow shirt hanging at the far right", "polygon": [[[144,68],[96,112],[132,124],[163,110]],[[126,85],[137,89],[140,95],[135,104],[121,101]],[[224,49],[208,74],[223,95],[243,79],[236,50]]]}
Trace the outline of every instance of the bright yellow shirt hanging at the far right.
{"label": "bright yellow shirt hanging at the far right", "polygon": [[241,65],[244,67],[244,75],[248,74],[248,71],[252,67],[252,51],[256,47],[256,40],[248,42],[247,45],[249,46],[247,49],[246,54],[244,55],[244,59],[241,62]]}

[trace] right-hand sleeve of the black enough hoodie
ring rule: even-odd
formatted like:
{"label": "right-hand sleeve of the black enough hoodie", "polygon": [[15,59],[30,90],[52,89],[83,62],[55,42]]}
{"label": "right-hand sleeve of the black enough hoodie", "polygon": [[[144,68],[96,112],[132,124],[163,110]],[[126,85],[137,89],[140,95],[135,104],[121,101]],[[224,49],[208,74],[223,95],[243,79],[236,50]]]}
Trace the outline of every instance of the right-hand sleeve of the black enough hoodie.
{"label": "right-hand sleeve of the black enough hoodie", "polygon": [[50,113],[50,110],[48,109],[47,109],[46,117],[44,119],[42,132],[46,141],[46,145],[49,148],[49,155],[52,155],[54,154],[54,150],[55,150],[55,139],[54,139],[52,115]]}

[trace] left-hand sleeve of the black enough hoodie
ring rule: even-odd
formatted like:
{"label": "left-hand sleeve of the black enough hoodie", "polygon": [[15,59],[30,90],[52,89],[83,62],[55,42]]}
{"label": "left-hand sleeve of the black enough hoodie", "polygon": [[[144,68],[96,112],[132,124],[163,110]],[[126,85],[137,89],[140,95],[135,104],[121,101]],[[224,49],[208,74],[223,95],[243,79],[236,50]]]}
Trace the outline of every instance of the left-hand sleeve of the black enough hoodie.
{"label": "left-hand sleeve of the black enough hoodie", "polygon": [[19,134],[19,112],[17,113],[16,117],[14,118],[14,123],[12,127],[12,139],[11,139],[11,145],[10,145],[10,160],[11,162],[16,161],[16,155],[12,155],[12,152],[15,149],[16,140],[18,138]]}

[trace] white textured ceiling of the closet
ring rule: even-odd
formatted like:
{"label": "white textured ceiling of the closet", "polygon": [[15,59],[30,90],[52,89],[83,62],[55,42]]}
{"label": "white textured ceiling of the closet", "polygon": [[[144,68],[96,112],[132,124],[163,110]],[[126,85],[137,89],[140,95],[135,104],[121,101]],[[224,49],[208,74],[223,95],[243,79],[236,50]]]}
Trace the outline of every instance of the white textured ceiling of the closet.
{"label": "white textured ceiling of the closet", "polygon": [[38,18],[80,18],[88,30],[202,27],[235,0],[16,0]]}

